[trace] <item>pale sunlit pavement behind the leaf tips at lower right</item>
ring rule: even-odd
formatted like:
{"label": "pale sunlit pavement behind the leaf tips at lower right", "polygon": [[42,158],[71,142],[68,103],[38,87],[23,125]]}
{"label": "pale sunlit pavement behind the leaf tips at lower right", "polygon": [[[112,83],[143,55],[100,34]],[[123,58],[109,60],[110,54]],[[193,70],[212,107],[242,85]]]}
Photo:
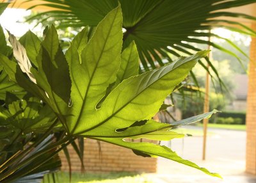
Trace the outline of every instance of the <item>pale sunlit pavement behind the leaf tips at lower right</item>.
{"label": "pale sunlit pavement behind the leaf tips at lower right", "polygon": [[157,161],[157,175],[148,175],[151,180],[157,183],[256,183],[255,176],[244,173],[246,132],[223,129],[209,129],[209,132],[212,135],[207,138],[206,161],[202,161],[202,137],[174,139],[172,144],[163,145],[171,146],[177,154],[198,166],[220,173],[223,180],[164,158]]}

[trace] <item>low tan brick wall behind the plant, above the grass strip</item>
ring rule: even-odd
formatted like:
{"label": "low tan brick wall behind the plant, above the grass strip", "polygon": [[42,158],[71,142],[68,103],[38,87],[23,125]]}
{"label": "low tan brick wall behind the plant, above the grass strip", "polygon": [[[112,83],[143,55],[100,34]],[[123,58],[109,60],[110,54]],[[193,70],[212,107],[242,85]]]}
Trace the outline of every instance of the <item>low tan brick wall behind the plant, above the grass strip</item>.
{"label": "low tan brick wall behind the plant, above the grass strip", "polygon": [[[72,146],[68,146],[68,152],[72,162],[72,171],[81,171],[81,163]],[[61,170],[68,171],[68,163],[63,152],[60,153],[60,157]],[[99,146],[96,140],[84,139],[84,166],[86,172],[130,171],[153,173],[156,172],[156,163],[156,158],[135,155],[130,149],[102,141],[100,141]]]}

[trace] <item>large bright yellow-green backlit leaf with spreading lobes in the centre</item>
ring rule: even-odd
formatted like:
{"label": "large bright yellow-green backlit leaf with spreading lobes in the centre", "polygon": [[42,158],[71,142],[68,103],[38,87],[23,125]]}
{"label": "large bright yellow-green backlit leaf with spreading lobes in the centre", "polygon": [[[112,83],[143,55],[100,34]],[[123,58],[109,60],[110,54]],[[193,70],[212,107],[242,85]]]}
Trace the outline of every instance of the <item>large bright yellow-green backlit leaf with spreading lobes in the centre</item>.
{"label": "large bright yellow-green backlit leaf with spreading lobes in the centre", "polygon": [[[97,26],[95,34],[88,45],[84,44],[85,48],[81,52],[81,63],[76,45],[71,43],[67,51],[66,58],[70,65],[72,79],[72,106],[70,107],[72,113],[70,113],[70,117],[68,116],[68,122],[71,123],[69,124],[71,126],[69,129],[71,134],[108,141],[122,147],[131,148],[137,152],[139,151],[139,154],[160,155],[218,177],[218,174],[210,173],[190,161],[181,159],[168,148],[147,143],[137,144],[124,141],[124,138],[170,140],[184,136],[168,131],[173,125],[154,122],[150,118],[157,113],[165,97],[172,93],[175,86],[188,75],[189,70],[194,67],[196,61],[204,58],[209,51],[201,51],[188,58],[181,57],[170,65],[146,72],[140,76],[134,76],[137,73],[129,72],[125,74],[125,68],[136,67],[136,64],[131,66],[131,63],[136,63],[136,57],[138,58],[134,44],[131,44],[122,53],[124,58],[122,60],[123,66],[120,67],[119,72],[116,72],[120,62],[120,49],[113,48],[116,48],[116,41],[122,42],[122,36],[116,34],[116,32],[122,33],[121,22],[119,25],[113,25],[113,22],[120,21],[118,18],[120,14],[116,15],[118,13],[120,13],[119,7],[111,11]],[[108,27],[109,24],[113,25],[112,28]],[[108,32],[102,36],[103,30]],[[104,39],[100,39],[102,37]],[[109,39],[114,41],[108,42]],[[96,48],[96,44],[98,48]],[[102,47],[102,44],[104,47]],[[95,46],[93,47],[93,45]],[[108,49],[108,55],[114,57],[112,60],[103,57],[106,45],[111,48]],[[134,59],[129,58],[130,55]],[[83,65],[83,63],[87,63],[90,60],[93,61],[90,62],[90,65]],[[130,60],[132,60],[131,63],[129,63]],[[105,73],[102,65],[108,72]],[[111,70],[109,65],[113,67]],[[100,72],[104,72],[104,77]],[[95,109],[97,102],[104,97],[106,88],[115,81],[115,75],[117,77],[120,76],[118,77],[119,80],[117,80],[118,83],[123,79],[125,80],[109,93],[99,109]],[[94,86],[93,89],[95,90],[90,88],[92,86]],[[204,117],[205,115],[201,119]],[[196,121],[198,118],[194,120]],[[147,122],[147,120],[149,121]],[[191,119],[188,122],[191,122]]]}

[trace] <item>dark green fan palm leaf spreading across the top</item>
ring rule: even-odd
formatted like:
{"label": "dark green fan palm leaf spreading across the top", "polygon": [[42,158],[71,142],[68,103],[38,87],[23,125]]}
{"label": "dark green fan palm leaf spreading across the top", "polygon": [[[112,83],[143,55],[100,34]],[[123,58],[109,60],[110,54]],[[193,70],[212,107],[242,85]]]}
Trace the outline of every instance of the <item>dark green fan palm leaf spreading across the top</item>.
{"label": "dark green fan palm leaf spreading across the top", "polygon": [[[120,0],[124,17],[123,28],[126,30],[124,33],[124,47],[127,47],[132,41],[136,43],[142,70],[162,66],[166,63],[165,61],[172,62],[173,55],[180,56],[181,53],[193,54],[195,51],[200,51],[200,49],[191,46],[193,43],[212,45],[221,51],[227,52],[227,54],[231,54],[242,63],[234,52],[205,40],[205,37],[216,36],[221,38],[209,33],[209,30],[216,27],[225,27],[233,31],[255,35],[255,31],[240,22],[226,19],[226,17],[242,17],[255,20],[255,17],[224,10],[250,3],[255,3],[255,0]],[[58,9],[40,13],[34,18],[45,15],[44,19],[41,19],[43,22],[45,20],[60,20],[60,27],[64,28],[96,26],[110,10],[117,6],[118,1],[47,0],[42,4]],[[51,19],[49,19],[50,17]],[[225,40],[225,38],[222,39]],[[229,43],[237,51],[246,55],[236,45]],[[220,79],[211,62],[209,60],[207,62],[216,77]],[[205,63],[201,61],[199,63],[209,72]]]}

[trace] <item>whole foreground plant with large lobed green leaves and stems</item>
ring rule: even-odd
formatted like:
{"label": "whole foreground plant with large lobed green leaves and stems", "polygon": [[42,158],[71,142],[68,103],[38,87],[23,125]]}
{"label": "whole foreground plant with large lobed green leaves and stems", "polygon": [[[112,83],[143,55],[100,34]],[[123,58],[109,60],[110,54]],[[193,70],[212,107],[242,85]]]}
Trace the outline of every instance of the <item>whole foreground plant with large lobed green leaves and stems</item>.
{"label": "whole foreground plant with large lobed green leaves and stems", "polygon": [[[24,46],[10,34],[14,57],[0,54],[3,72],[26,91],[20,98],[13,93],[6,94],[1,121],[28,138],[14,155],[6,155],[4,149],[1,152],[4,157],[0,166],[1,182],[28,178],[52,164],[58,167],[56,155],[68,144],[71,143],[77,152],[83,150],[81,145],[74,144],[77,138],[106,141],[147,157],[166,157],[220,177],[182,159],[167,147],[126,140],[180,138],[182,134],[170,129],[198,122],[217,112],[193,116],[172,125],[152,120],[166,96],[209,51],[180,57],[138,75],[136,45],[132,42],[122,51],[120,5],[99,23],[89,41],[87,28],[84,28],[65,54],[54,26],[45,29],[44,33],[44,40],[40,42],[28,32],[21,38]],[[31,47],[33,44],[36,46]],[[31,64],[29,59],[35,63]],[[12,137],[8,132],[4,134],[2,146],[7,147]],[[32,141],[34,137],[37,138]],[[13,142],[16,143],[16,139]]]}

